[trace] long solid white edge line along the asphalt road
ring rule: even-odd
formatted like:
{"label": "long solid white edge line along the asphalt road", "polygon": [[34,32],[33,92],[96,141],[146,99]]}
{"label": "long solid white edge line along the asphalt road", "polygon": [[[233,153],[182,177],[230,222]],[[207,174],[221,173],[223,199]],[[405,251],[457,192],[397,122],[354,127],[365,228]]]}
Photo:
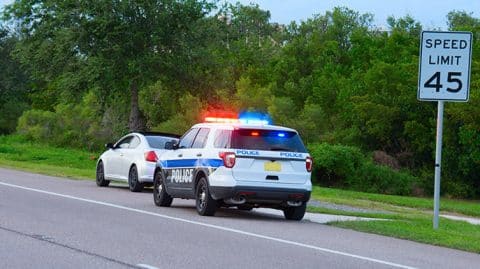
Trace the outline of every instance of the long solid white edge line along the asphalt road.
{"label": "long solid white edge line along the asphalt road", "polygon": [[164,218],[164,219],[175,220],[175,221],[179,221],[179,222],[199,225],[199,226],[208,227],[208,228],[217,229],[217,230],[222,230],[222,231],[226,231],[226,232],[231,232],[231,233],[236,233],[236,234],[241,234],[241,235],[246,235],[246,236],[251,236],[251,237],[256,237],[256,238],[261,238],[261,239],[265,239],[265,240],[270,240],[270,241],[274,241],[274,242],[284,243],[284,244],[287,244],[287,245],[293,245],[293,246],[313,249],[313,250],[317,250],[317,251],[321,251],[321,252],[336,254],[336,255],[345,256],[345,257],[350,257],[350,258],[354,258],[354,259],[359,259],[359,260],[384,264],[384,265],[388,265],[388,266],[392,266],[392,267],[396,267],[396,268],[415,269],[415,267],[402,265],[402,264],[398,264],[398,263],[393,263],[393,262],[388,262],[388,261],[384,261],[384,260],[369,258],[369,257],[365,257],[365,256],[355,255],[355,254],[342,252],[342,251],[337,251],[337,250],[328,249],[328,248],[317,247],[317,246],[314,246],[314,245],[308,245],[308,244],[295,242],[295,241],[290,241],[290,240],[285,240],[285,239],[280,239],[280,238],[276,238],[276,237],[272,237],[272,236],[246,232],[246,231],[237,230],[237,229],[233,229],[233,228],[227,228],[227,227],[222,227],[222,226],[218,226],[218,225],[213,225],[213,224],[208,224],[208,223],[203,223],[203,222],[198,222],[198,221],[193,221],[193,220],[188,220],[188,219],[172,217],[172,216],[168,216],[168,215],[158,214],[158,213],[149,212],[149,211],[140,210],[140,209],[135,209],[135,208],[131,208],[131,207],[126,207],[126,206],[121,206],[121,205],[116,205],[116,204],[111,204],[111,203],[106,203],[106,202],[101,202],[101,201],[96,201],[96,200],[90,200],[90,199],[75,197],[75,196],[66,195],[66,194],[49,192],[49,191],[44,191],[44,190],[39,190],[39,189],[33,189],[33,188],[23,187],[23,186],[9,184],[9,183],[5,183],[5,182],[0,182],[0,185],[12,187],[12,188],[17,188],[17,189],[23,189],[23,190],[27,190],[27,191],[33,191],[33,192],[48,194],[48,195],[67,198],[67,199],[72,199],[72,200],[77,200],[77,201],[82,201],[82,202],[87,202],[87,203],[92,203],[92,204],[97,204],[97,205],[113,207],[113,208],[117,208],[117,209],[123,209],[123,210],[131,211],[131,212],[146,214],[146,215],[150,215],[150,216],[156,216],[156,217],[160,217],[160,218]]}

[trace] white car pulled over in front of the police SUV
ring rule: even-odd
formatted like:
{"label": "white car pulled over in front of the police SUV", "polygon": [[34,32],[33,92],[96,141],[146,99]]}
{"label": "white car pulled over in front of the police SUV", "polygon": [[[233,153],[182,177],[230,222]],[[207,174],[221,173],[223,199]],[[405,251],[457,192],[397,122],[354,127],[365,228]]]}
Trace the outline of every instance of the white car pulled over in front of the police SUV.
{"label": "white car pulled over in front of the police SUV", "polygon": [[158,156],[165,152],[165,143],[178,141],[179,136],[165,133],[130,133],[107,143],[97,162],[97,186],[106,187],[110,180],[128,182],[132,192],[140,192],[153,182]]}

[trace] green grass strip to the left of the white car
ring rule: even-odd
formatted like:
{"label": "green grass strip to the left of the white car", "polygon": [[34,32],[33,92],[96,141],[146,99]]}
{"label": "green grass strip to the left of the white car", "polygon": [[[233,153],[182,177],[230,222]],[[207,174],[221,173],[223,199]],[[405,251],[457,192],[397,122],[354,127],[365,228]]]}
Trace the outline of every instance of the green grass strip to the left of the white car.
{"label": "green grass strip to the left of the white car", "polygon": [[0,136],[0,166],[69,178],[94,179],[98,153],[57,148],[27,141],[22,136]]}

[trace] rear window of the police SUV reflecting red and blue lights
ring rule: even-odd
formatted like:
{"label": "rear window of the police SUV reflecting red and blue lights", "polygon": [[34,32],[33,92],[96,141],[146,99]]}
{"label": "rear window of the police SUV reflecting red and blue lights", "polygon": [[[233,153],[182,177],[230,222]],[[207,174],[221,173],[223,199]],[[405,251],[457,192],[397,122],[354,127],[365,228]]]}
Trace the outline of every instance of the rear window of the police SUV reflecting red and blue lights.
{"label": "rear window of the police SUV reflecting red and blue lights", "polygon": [[232,148],[269,151],[307,152],[296,132],[237,129],[232,134]]}

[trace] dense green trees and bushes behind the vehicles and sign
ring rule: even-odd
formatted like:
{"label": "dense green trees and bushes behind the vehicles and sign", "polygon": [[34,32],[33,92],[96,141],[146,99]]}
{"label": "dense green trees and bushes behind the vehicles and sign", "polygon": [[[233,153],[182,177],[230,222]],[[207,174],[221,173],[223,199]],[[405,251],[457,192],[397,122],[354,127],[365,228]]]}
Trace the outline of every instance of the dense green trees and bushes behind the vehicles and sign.
{"label": "dense green trees and bushes behind the vehicles and sign", "polygon": [[[416,99],[418,22],[377,29],[373,15],[335,8],[282,25],[255,5],[216,4],[15,1],[0,31],[0,132],[18,122],[29,139],[93,149],[256,109],[300,131],[319,184],[431,193],[436,106]],[[480,20],[446,19],[474,33],[474,49],[470,101],[446,104],[442,191],[479,197]]]}

